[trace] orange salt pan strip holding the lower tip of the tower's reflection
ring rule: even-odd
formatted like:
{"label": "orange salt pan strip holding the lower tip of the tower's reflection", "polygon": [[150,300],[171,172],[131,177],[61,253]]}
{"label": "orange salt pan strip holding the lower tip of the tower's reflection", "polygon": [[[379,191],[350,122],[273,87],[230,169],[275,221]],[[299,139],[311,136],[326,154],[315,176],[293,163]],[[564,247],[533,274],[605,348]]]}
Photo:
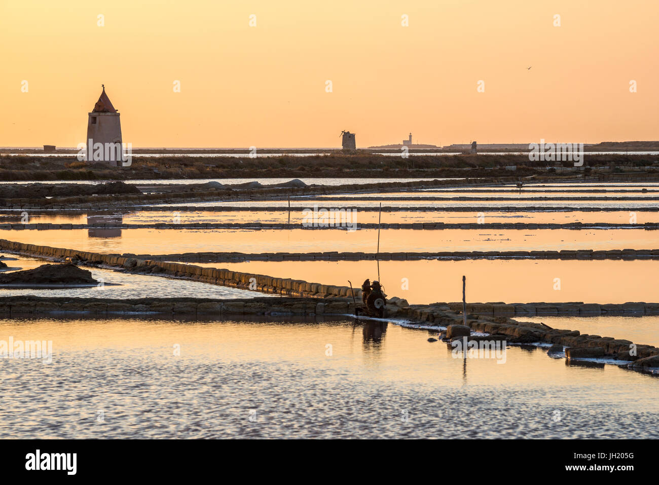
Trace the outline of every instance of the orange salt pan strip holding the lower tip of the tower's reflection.
{"label": "orange salt pan strip holding the lower tip of the tower's reflection", "polygon": [[[383,229],[380,252],[654,249],[658,235],[645,229]],[[119,254],[376,252],[378,229],[3,229],[0,238]]]}

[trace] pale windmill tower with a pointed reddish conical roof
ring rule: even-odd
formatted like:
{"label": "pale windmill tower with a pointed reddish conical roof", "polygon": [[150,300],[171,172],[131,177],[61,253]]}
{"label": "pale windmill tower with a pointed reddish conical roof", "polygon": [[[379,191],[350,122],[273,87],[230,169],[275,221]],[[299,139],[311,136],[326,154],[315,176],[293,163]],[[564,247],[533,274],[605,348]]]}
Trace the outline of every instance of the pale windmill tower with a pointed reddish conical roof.
{"label": "pale windmill tower with a pointed reddish conical roof", "polygon": [[87,161],[105,161],[111,167],[122,159],[119,112],[103,92],[89,114],[87,122]]}

